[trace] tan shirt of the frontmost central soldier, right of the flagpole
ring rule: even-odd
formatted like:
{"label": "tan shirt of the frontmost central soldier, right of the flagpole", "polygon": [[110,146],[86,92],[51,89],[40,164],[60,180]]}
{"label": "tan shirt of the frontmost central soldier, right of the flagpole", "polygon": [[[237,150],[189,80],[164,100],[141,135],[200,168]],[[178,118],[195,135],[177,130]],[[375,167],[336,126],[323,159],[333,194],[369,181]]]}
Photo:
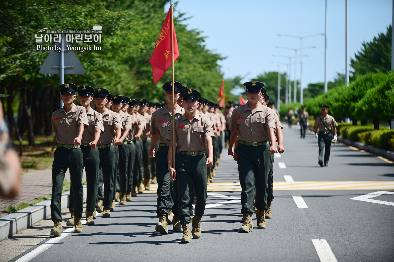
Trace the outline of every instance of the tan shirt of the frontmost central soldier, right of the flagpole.
{"label": "tan shirt of the frontmost central soldier, right of the flagpole", "polygon": [[[178,143],[178,153],[180,151],[205,151],[205,137],[214,138],[214,130],[210,120],[198,112],[191,123],[185,114],[175,119],[175,132],[174,142]],[[167,132],[166,139],[172,141],[172,129]]]}

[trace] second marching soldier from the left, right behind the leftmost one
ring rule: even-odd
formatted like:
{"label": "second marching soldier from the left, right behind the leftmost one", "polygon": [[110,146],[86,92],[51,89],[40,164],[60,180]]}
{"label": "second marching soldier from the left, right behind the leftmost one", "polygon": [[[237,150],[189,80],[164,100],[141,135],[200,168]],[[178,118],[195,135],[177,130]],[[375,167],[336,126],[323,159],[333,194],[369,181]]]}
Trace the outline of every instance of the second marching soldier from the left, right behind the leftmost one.
{"label": "second marching soldier from the left, right behind the leftmost one", "polygon": [[[88,85],[78,87],[78,101],[85,107],[89,126],[85,127],[82,134],[81,150],[84,157],[84,168],[86,173],[86,225],[94,225],[93,212],[96,212],[97,204],[97,174],[99,173],[99,142],[101,132],[104,132],[102,116],[99,112],[90,107],[93,101],[93,87]],[[82,196],[83,197],[83,196]],[[69,203],[74,199],[74,192],[70,189]],[[69,205],[71,218],[67,220],[67,225],[74,226],[74,208]]]}

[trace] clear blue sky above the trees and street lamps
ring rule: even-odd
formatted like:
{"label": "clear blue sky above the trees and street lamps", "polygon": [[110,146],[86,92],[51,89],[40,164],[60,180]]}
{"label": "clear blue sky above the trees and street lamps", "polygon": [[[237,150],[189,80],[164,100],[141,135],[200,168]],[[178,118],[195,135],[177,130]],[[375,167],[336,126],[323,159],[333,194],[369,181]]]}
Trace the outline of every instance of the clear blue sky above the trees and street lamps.
{"label": "clear blue sky above the trees and street lamps", "polygon": [[[268,71],[277,71],[272,60],[288,59],[272,54],[293,56],[294,51],[276,45],[299,48],[300,40],[277,33],[305,36],[324,33],[325,0],[174,0],[178,12],[192,17],[184,23],[206,36],[206,47],[227,59],[219,62],[224,77],[245,76],[244,81]],[[392,0],[348,0],[349,56],[361,50],[363,41],[372,41],[392,24]],[[169,4],[165,6],[165,11]],[[175,28],[176,30],[176,28]],[[178,43],[182,44],[182,43]],[[303,87],[324,82],[324,37],[306,38]],[[299,53],[298,53],[299,54]],[[182,55],[182,54],[180,54]],[[345,72],[345,0],[327,0],[327,74],[332,81],[336,72]],[[285,65],[281,65],[284,72]],[[294,60],[290,77],[294,80]],[[300,79],[300,66],[297,66]]]}

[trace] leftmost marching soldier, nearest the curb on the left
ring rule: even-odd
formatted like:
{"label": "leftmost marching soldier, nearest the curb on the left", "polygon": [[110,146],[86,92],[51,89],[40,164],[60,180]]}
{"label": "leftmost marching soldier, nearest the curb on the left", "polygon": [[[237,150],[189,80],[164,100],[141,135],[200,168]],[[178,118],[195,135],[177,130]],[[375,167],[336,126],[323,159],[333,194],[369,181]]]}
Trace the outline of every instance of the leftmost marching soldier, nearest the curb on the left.
{"label": "leftmost marching soldier, nearest the curb on the left", "polygon": [[84,160],[81,150],[82,134],[85,126],[89,125],[84,107],[73,103],[78,91],[73,83],[59,86],[63,108],[52,113],[52,132],[57,132],[58,147],[54,152],[52,164],[52,199],[50,204],[51,217],[54,227],[50,234],[61,236],[61,192],[63,190],[64,174],[70,170],[72,191],[74,192],[74,232],[83,232],[82,206],[84,192],[82,188],[82,170]]}

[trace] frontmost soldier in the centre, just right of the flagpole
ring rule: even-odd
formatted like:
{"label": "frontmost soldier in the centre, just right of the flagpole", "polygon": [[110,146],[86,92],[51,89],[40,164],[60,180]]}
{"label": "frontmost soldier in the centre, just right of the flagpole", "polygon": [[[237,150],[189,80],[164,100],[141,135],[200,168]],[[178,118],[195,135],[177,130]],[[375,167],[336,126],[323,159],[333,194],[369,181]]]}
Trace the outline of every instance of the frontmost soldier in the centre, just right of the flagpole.
{"label": "frontmost soldier in the centre, just right of the flagpole", "polygon": [[[180,242],[189,243],[192,234],[193,238],[201,236],[200,221],[207,198],[206,167],[212,166],[214,132],[210,121],[197,113],[201,94],[194,89],[185,89],[180,92],[180,96],[183,98],[185,114],[175,120],[175,140],[173,141],[172,129],[167,133],[166,138],[171,141],[168,150],[168,170],[171,179],[177,180],[179,219],[183,229]],[[177,171],[172,167],[172,143],[178,143]],[[208,152],[208,157],[205,150]],[[190,181],[193,182],[197,199],[195,216],[192,220],[189,213]],[[189,229],[190,221],[193,224],[192,232]]]}

